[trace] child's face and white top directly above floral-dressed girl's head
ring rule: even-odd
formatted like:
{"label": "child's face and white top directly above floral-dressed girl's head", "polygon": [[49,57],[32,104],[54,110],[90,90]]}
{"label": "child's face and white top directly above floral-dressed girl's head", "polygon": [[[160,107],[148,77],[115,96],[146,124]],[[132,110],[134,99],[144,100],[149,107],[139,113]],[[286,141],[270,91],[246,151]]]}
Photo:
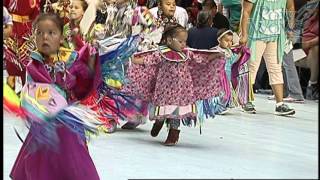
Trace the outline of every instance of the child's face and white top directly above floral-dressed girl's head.
{"label": "child's face and white top directly above floral-dressed girl's head", "polygon": [[[160,8],[160,12],[159,12]],[[159,18],[159,13],[167,18],[174,17],[181,26],[187,27],[188,24],[188,13],[187,11],[179,6],[176,6],[175,0],[160,0],[158,7],[150,9],[150,13],[156,18]]]}

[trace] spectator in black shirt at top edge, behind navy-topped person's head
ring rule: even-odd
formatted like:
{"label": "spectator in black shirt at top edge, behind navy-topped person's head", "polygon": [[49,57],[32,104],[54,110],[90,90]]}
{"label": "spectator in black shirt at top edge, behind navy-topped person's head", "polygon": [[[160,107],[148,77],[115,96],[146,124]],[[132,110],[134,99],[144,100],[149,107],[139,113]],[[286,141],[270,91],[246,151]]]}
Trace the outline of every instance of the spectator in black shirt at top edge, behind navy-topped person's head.
{"label": "spectator in black shirt at top edge, behind navy-topped person's head", "polygon": [[204,0],[202,3],[203,10],[210,11],[213,16],[213,27],[217,29],[230,29],[228,19],[217,11],[217,5],[214,0]]}

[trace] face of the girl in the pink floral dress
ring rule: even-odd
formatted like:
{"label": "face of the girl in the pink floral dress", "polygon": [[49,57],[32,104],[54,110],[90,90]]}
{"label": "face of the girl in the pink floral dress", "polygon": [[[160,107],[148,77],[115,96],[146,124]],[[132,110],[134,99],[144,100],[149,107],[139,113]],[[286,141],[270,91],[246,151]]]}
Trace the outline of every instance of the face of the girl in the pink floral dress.
{"label": "face of the girl in the pink floral dress", "polygon": [[168,46],[175,50],[181,52],[187,47],[188,33],[186,31],[180,31],[177,33],[176,37],[168,37]]}

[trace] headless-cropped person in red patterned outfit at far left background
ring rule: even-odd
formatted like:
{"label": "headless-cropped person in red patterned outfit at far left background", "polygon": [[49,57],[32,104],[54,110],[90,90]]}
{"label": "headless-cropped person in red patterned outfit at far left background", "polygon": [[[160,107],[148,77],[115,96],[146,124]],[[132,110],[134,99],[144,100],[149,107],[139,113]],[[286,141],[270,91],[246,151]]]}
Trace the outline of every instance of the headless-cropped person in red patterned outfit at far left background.
{"label": "headless-cropped person in red patterned outfit at far left background", "polygon": [[20,77],[24,84],[27,57],[35,48],[31,29],[32,21],[40,13],[40,0],[4,0],[3,6],[8,9],[13,21],[12,34],[4,43],[7,47],[5,61],[8,84],[15,88],[16,77]]}

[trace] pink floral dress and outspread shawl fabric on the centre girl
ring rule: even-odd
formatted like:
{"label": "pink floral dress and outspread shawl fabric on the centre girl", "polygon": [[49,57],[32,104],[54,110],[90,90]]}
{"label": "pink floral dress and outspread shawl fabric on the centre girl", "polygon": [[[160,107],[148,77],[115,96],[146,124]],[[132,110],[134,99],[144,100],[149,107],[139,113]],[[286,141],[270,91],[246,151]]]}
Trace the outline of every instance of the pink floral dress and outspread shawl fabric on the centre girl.
{"label": "pink floral dress and outspread shawl fabric on the centre girl", "polygon": [[219,74],[225,61],[208,55],[188,50],[182,55],[172,50],[141,53],[144,65],[129,68],[124,91],[154,106],[187,106],[214,97],[221,90]]}

